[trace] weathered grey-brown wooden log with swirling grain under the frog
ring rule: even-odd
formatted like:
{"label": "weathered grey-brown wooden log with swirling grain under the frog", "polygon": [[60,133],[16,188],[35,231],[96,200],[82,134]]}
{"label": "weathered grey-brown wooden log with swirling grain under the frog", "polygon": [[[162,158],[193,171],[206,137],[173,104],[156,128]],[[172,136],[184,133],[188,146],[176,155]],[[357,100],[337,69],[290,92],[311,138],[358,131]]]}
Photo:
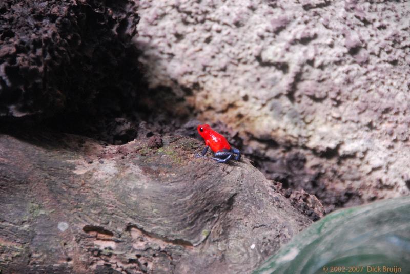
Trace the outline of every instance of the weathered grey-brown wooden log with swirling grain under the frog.
{"label": "weathered grey-brown wooden log with swirling grain under the frog", "polygon": [[0,135],[0,272],[248,273],[312,222],[247,159],[156,144]]}

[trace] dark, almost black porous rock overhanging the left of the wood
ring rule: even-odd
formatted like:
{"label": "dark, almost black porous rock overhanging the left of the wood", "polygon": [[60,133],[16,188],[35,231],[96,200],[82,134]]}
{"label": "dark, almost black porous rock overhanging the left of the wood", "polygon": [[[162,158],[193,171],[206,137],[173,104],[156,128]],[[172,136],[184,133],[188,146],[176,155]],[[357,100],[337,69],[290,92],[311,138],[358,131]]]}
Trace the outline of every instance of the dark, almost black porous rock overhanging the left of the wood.
{"label": "dark, almost black porous rock overhanging the left of the wood", "polygon": [[130,43],[138,20],[131,0],[2,1],[0,116],[129,108],[141,78]]}

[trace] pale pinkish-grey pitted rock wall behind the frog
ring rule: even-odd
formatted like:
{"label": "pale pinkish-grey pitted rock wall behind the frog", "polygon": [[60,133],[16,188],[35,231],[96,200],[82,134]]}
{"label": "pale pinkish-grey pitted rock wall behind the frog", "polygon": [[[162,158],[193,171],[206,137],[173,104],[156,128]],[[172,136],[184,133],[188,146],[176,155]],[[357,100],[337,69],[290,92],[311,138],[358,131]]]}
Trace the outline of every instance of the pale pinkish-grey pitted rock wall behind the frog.
{"label": "pale pinkish-grey pitted rock wall behind the frog", "polygon": [[150,87],[232,127],[268,177],[328,211],[409,193],[407,1],[137,5]]}

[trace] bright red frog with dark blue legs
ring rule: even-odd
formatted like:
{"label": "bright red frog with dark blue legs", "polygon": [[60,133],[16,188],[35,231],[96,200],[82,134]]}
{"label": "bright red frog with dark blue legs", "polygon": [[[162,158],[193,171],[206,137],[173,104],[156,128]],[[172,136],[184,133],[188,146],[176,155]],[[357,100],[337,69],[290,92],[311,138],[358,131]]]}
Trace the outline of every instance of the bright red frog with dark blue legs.
{"label": "bright red frog with dark blue legs", "polygon": [[236,161],[240,160],[240,151],[231,147],[227,139],[212,130],[209,124],[200,124],[197,127],[199,135],[205,140],[205,148],[201,154],[195,153],[195,157],[203,157],[208,152],[208,148],[214,152],[212,159],[218,163],[226,163],[233,157]]}

